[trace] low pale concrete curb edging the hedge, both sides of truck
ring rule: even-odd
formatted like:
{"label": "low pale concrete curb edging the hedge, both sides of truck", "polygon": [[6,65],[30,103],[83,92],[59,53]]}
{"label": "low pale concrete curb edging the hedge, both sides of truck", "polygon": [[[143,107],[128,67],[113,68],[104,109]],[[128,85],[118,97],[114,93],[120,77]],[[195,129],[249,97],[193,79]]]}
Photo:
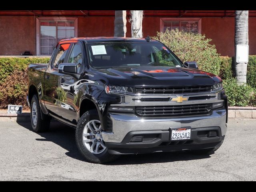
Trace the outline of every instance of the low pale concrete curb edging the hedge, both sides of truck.
{"label": "low pale concrete curb edging the hedge, both sides of truck", "polygon": [[[256,107],[228,107],[228,118],[256,118]],[[0,122],[30,122],[30,113],[0,114]]]}

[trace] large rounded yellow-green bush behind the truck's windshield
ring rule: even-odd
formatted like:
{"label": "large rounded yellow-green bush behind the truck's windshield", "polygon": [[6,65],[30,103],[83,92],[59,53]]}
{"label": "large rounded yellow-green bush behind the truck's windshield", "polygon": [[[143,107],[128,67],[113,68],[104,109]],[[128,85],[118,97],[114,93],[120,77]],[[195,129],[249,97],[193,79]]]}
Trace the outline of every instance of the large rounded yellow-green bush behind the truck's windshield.
{"label": "large rounded yellow-green bush behind the truck's windshield", "polygon": [[157,32],[155,40],[164,43],[180,60],[196,61],[200,70],[216,75],[220,73],[220,56],[211,39],[202,34],[183,32],[179,30],[166,30]]}

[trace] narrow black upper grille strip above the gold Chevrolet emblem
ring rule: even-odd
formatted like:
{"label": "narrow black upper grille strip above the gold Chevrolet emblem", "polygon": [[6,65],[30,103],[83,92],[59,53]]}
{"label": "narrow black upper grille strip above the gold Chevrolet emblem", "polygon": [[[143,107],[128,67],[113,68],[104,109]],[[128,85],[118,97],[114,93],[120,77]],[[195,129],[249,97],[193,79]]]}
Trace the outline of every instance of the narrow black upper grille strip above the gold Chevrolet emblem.
{"label": "narrow black upper grille strip above the gold Chevrolet emblem", "polygon": [[192,94],[211,92],[212,86],[191,86],[173,88],[136,88],[136,94],[156,95],[156,94]]}

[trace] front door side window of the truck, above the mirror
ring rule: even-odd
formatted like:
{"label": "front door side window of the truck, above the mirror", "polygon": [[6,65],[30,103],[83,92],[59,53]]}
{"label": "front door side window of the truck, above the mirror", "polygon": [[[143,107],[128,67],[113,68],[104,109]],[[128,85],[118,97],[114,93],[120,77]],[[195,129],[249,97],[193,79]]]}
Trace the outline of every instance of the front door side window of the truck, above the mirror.
{"label": "front door side window of the truck, above the mirror", "polygon": [[82,57],[82,48],[79,44],[74,44],[74,47],[70,53],[68,62],[75,63],[77,66],[77,72],[80,72],[82,68],[83,57]]}

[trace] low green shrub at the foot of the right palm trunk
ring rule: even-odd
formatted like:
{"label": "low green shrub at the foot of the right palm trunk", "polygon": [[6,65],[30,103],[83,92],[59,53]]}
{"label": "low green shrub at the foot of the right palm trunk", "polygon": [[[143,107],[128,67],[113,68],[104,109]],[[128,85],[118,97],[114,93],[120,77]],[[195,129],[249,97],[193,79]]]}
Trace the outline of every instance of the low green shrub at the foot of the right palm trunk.
{"label": "low green shrub at the foot of the right palm trunk", "polygon": [[238,85],[236,78],[223,80],[229,106],[256,106],[255,90],[249,85]]}

